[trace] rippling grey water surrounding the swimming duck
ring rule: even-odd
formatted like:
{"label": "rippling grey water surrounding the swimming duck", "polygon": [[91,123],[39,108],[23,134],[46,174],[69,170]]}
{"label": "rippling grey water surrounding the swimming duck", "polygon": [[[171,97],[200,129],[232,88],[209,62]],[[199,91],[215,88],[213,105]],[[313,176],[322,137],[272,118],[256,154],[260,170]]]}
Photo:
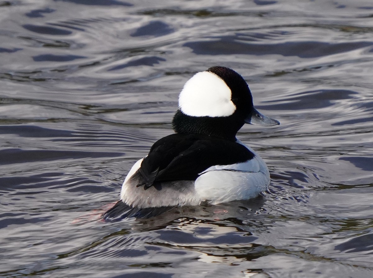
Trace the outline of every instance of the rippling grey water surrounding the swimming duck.
{"label": "rippling grey water surrounding the swimming duck", "polygon": [[[0,1],[0,42],[2,277],[373,277],[371,0]],[[95,220],[213,65],[269,192]]]}

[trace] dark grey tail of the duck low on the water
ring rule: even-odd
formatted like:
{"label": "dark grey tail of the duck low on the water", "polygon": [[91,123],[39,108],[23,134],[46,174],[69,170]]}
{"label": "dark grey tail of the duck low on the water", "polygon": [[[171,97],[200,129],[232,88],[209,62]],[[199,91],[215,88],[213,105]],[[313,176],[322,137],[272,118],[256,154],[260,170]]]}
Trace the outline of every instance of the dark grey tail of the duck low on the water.
{"label": "dark grey tail of the duck low on the water", "polygon": [[157,216],[172,209],[173,207],[147,207],[144,209],[138,209],[136,207],[128,206],[119,200],[111,209],[106,211],[103,215],[105,221],[119,221],[127,217],[136,218],[150,218]]}

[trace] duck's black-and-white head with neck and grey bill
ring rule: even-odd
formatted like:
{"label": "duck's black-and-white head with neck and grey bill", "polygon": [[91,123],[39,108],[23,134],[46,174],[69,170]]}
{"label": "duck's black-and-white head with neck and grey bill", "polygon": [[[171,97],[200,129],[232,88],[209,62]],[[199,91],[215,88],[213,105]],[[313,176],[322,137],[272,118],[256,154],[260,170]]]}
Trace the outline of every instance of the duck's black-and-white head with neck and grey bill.
{"label": "duck's black-and-white head with neck and grey bill", "polygon": [[198,72],[186,81],[172,121],[177,133],[199,133],[229,140],[235,140],[245,123],[280,124],[254,108],[250,89],[241,75],[220,66]]}

